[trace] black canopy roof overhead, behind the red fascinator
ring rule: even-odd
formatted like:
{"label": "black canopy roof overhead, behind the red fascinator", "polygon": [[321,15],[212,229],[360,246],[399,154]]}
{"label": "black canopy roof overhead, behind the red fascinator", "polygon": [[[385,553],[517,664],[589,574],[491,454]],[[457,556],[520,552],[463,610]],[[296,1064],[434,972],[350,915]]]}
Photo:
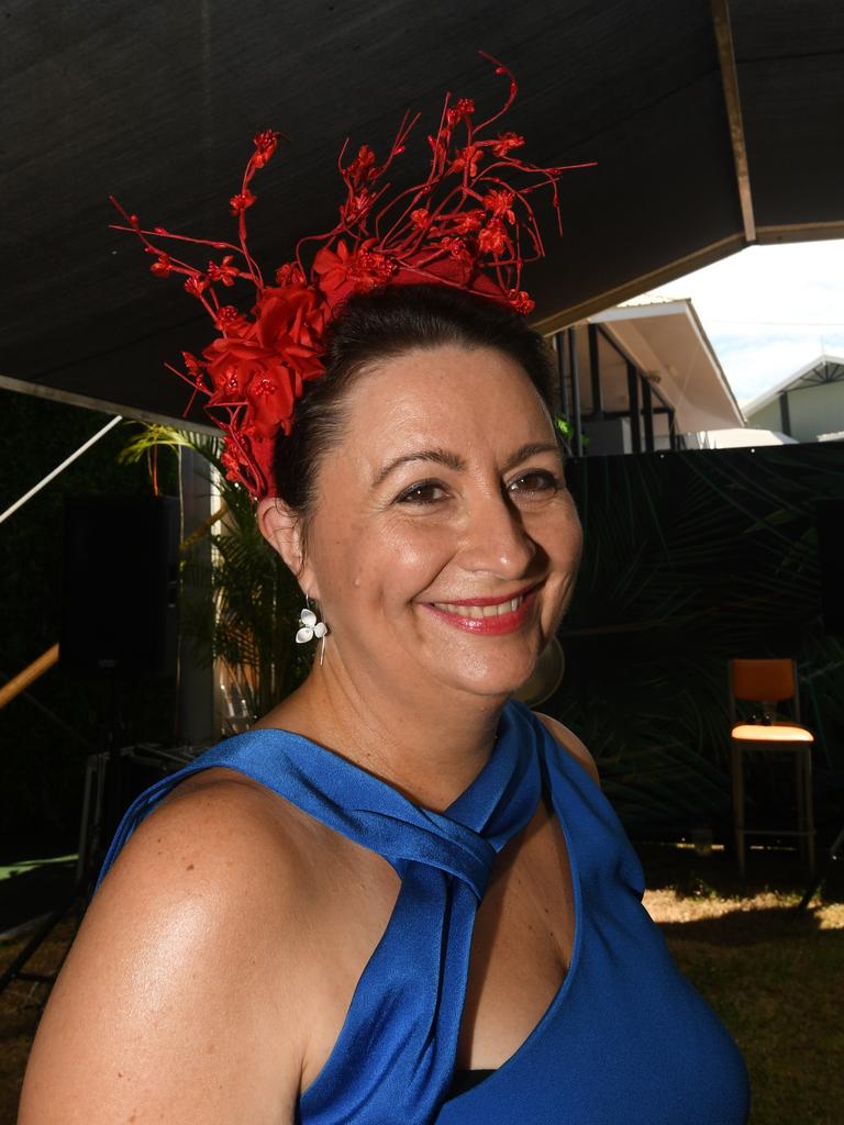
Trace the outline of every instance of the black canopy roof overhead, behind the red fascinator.
{"label": "black canopy roof overhead, behind the red fascinator", "polygon": [[527,278],[546,327],[748,241],[844,234],[839,0],[7,0],[0,385],[180,416],[162,363],[210,325],[108,230],[109,192],[228,237],[252,134],[281,129],[250,213],[271,269],[333,225],[347,135],[384,152],[447,89],[497,104],[477,48],[519,80],[530,159],[599,162]]}

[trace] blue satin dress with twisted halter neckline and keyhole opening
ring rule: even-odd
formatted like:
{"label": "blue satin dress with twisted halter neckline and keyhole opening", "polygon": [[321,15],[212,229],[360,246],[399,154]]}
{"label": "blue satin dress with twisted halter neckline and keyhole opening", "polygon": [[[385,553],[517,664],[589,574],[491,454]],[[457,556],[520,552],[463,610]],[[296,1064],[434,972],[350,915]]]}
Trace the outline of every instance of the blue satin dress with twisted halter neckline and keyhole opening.
{"label": "blue satin dress with twisted halter neckline and keyhole opening", "polygon": [[[99,881],[182,777],[225,766],[384,856],[402,880],[300,1125],[743,1125],[742,1056],[680,975],[641,904],[641,866],[601,790],[520,703],[446,812],[298,735],[230,738],[156,782],[124,816]],[[575,940],[567,975],[519,1050],[455,1095],[472,928],[495,855],[542,790],[565,835]],[[98,882],[99,885],[99,882]]]}

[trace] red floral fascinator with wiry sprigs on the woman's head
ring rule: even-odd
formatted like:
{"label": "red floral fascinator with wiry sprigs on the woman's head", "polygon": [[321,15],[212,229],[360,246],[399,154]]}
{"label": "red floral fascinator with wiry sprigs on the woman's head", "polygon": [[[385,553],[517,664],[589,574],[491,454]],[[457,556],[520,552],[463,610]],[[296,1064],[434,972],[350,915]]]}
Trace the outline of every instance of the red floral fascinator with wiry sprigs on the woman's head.
{"label": "red floral fascinator with wiry sprigs on the woman's head", "polygon": [[[195,395],[206,396],[207,413],[226,435],[226,475],[252,496],[272,494],[276,438],[279,431],[290,432],[305,382],[322,375],[326,325],[351,294],[433,282],[522,314],[533,308],[521,288],[521,270],[544,256],[544,249],[530,195],[547,187],[559,223],[557,179],[566,169],[528,163],[520,156],[524,138],[493,128],[512,105],[517,84],[505,66],[491,62],[510,82],[504,105],[476,123],[469,98],[447,94],[439,128],[428,137],[430,165],[420,183],[390,194],[385,180],[419,115],[405,115],[381,163],[368,145],[345,162],[347,143],[339,159],[345,196],[336,226],[302,238],[294,259],[276,270],[272,282],[264,280],[249,251],[246,212],[257,199],[253,177],[275,153],[278,133],[267,129],[254,137],[240,190],[230,200],[236,242],[146,230],[113,197],[126,219],[115,230],[141,238],[155,259],[150,269],[156,277],[181,274],[187,292],[214,322],[217,335],[201,356],[182,352],[183,370],[167,366]],[[213,259],[205,268],[191,264],[177,255],[177,244],[209,248]],[[306,250],[312,252],[305,255]],[[230,291],[243,282],[252,303],[239,306]]]}

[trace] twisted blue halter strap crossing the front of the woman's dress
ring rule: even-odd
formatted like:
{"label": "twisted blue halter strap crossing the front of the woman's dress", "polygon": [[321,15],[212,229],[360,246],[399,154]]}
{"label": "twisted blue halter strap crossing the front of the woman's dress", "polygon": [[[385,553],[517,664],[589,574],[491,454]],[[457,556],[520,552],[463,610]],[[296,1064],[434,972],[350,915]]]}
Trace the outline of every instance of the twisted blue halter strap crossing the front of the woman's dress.
{"label": "twisted blue halter strap crossing the front of the woman's dress", "polygon": [[[466,994],[475,914],[493,860],[530,821],[541,793],[538,723],[511,702],[488,762],[446,810],[413,804],[386,782],[298,735],[257,730],[222,742],[142,793],[124,816],[99,883],[172,786],[227,766],[377,852],[402,879],[334,1051],[302,1098],[307,1120],[431,1122],[447,1096]],[[354,1060],[351,1064],[350,1060]]]}

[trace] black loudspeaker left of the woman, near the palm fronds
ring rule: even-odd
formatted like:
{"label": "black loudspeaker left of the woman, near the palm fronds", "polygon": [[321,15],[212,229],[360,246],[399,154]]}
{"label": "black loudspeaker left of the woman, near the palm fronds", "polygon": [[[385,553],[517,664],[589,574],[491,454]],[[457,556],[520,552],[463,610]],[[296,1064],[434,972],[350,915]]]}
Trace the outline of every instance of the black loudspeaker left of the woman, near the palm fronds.
{"label": "black loudspeaker left of the woman, near the palm fronds", "polygon": [[178,500],[68,500],[63,569],[63,669],[118,677],[174,675]]}

